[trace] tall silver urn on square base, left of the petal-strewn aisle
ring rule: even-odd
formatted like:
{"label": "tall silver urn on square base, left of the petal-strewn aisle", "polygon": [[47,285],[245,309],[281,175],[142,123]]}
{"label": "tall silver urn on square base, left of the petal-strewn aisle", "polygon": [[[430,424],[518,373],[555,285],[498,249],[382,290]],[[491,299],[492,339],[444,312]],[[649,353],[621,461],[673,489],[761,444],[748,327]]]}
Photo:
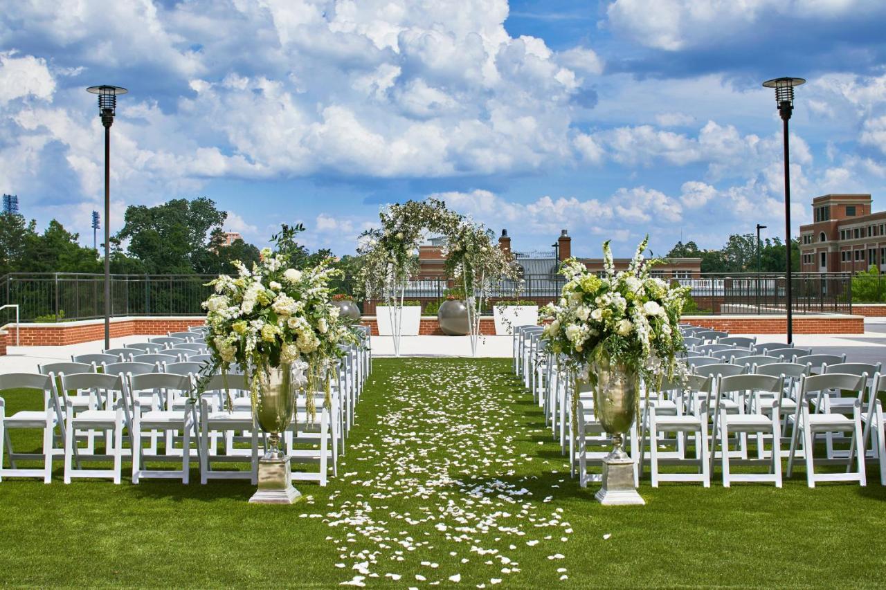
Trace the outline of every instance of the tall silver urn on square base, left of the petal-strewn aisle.
{"label": "tall silver urn on square base, left of the petal-strewn aisle", "polygon": [[292,486],[289,457],[280,450],[280,436],[295,413],[296,389],[292,385],[292,368],[263,367],[257,379],[255,421],[268,438],[268,451],[259,460],[259,489],[249,499],[258,504],[293,504],[301,494]]}

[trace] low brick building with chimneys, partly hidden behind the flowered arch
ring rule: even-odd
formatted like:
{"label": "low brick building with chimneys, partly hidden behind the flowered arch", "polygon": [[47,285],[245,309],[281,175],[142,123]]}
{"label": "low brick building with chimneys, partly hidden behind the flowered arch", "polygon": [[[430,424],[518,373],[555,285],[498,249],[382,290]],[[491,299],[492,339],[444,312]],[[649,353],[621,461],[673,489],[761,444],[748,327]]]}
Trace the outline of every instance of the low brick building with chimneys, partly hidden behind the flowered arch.
{"label": "low brick building with chimneys, partly hidden behind the flowered arch", "polygon": [[[443,255],[443,246],[446,238],[432,237],[428,244],[421,245],[418,248],[419,261],[419,277],[420,278],[442,278],[446,276],[444,269],[446,257]],[[517,264],[523,268],[525,276],[543,276],[555,275],[559,263],[566,260],[572,255],[572,238],[569,232],[563,229],[560,236],[557,237],[556,243],[551,245],[549,251],[536,252],[515,252],[511,250],[510,237],[508,230],[501,230],[499,237],[499,247],[508,252],[514,252]],[[592,271],[603,272],[602,258],[581,258],[585,266]],[[617,258],[613,260],[617,270],[624,270],[630,263],[629,258]],[[658,264],[652,271],[653,276],[662,278],[698,278],[701,275],[702,260],[700,258],[675,258],[665,260],[663,264]]]}

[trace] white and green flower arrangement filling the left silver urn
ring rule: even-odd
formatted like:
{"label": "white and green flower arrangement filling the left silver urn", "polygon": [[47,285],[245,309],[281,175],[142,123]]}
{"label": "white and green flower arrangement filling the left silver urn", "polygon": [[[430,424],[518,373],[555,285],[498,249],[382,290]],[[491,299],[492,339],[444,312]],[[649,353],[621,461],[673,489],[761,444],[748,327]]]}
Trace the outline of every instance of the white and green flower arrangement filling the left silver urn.
{"label": "white and green flower arrangement filling the left silver urn", "polygon": [[[253,268],[235,261],[238,276],[221,275],[208,283],[215,294],[203,303],[209,333],[211,369],[229,371],[232,363],[248,372],[253,411],[263,374],[290,365],[292,384],[316,391],[325,384],[329,403],[331,362],[339,344],[355,343],[350,323],[330,304],[330,278],[338,270],[322,262],[314,268],[288,268],[287,257],[261,251]],[[314,411],[314,396],[307,396]]]}

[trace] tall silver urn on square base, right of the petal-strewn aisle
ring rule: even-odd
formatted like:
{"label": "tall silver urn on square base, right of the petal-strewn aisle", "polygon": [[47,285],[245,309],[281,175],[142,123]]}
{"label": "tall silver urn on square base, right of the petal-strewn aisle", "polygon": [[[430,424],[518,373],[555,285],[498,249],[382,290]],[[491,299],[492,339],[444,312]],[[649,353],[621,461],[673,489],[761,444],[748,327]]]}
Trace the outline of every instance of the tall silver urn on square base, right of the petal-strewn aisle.
{"label": "tall silver urn on square base, right of the petal-strewn aisle", "polygon": [[594,387],[594,414],[612,437],[612,450],[603,459],[602,487],[595,494],[601,504],[645,504],[633,478],[633,459],[624,449],[625,433],[631,428],[640,395],[637,371],[605,357],[590,373]]}

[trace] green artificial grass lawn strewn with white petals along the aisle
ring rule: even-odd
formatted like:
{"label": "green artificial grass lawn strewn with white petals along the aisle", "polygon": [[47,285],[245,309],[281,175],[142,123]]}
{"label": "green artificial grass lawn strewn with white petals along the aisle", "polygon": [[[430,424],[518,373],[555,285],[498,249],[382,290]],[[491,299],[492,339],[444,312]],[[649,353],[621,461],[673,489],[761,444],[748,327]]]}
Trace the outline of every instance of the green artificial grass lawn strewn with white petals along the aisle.
{"label": "green artificial grass lawn strewn with white petals along the aisle", "polygon": [[[291,507],[248,481],[0,483],[11,586],[880,586],[886,490],[582,489],[509,360],[377,360],[338,477]],[[39,404],[38,400],[35,400]],[[7,414],[21,407],[7,400]],[[32,404],[33,406],[33,404]],[[20,451],[36,433],[13,433]],[[664,468],[667,469],[667,468]],[[467,560],[467,561],[464,561]],[[420,576],[421,578],[416,578]],[[424,579],[422,579],[424,578]],[[458,580],[457,582],[452,580]],[[501,581],[499,581],[501,580]]]}

